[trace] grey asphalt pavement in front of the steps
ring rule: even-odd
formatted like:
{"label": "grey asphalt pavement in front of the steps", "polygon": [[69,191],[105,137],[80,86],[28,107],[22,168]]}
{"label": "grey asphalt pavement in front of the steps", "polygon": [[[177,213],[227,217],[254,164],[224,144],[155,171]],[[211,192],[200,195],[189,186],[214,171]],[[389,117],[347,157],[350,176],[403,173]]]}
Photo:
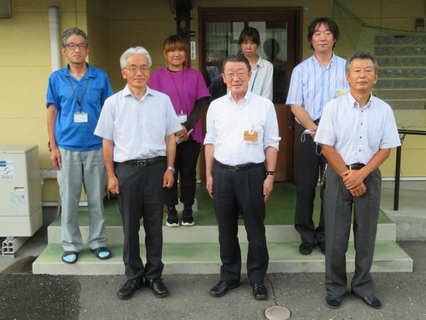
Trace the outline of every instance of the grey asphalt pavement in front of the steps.
{"label": "grey asphalt pavement in front of the steps", "polygon": [[262,302],[253,299],[245,275],[239,288],[214,298],[209,289],[218,274],[167,274],[169,297],[158,299],[143,288],[122,301],[116,292],[124,275],[31,274],[28,257],[0,274],[0,319],[265,319],[265,309],[275,305],[290,309],[291,319],[426,319],[426,242],[399,243],[413,257],[414,271],[373,274],[379,310],[349,293],[339,309],[329,309],[323,273],[268,274],[269,298]]}

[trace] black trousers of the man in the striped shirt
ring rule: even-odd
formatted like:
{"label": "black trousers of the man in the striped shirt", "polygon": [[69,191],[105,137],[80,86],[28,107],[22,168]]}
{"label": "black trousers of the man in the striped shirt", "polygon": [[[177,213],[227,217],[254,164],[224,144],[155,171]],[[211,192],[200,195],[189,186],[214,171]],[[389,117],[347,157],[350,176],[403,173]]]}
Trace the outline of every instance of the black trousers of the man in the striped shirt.
{"label": "black trousers of the man in the striped shirt", "polygon": [[295,229],[300,233],[302,242],[324,242],[324,209],[321,196],[320,223],[315,228],[312,214],[314,211],[315,188],[318,177],[324,174],[327,160],[320,154],[321,147],[317,146],[309,134],[305,134],[305,142],[301,141],[305,128],[296,123],[295,126],[295,180],[296,180],[296,212]]}

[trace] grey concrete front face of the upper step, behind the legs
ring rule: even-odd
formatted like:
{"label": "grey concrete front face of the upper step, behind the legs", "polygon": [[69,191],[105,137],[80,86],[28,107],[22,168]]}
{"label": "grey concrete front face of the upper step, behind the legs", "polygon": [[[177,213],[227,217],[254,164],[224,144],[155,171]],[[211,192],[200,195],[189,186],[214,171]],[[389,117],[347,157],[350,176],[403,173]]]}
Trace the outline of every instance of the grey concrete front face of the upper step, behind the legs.
{"label": "grey concrete front face of the upper step, behind the legs", "polygon": [[[266,238],[269,242],[292,242],[300,241],[300,234],[293,225],[266,225]],[[82,238],[86,240],[89,236],[89,227],[81,226]],[[379,223],[377,229],[377,240],[395,241],[395,223]],[[178,228],[163,227],[164,242],[218,242],[217,225],[194,225],[192,227],[179,226]],[[123,228],[121,225],[107,226],[108,243],[123,242]],[[239,225],[239,239],[247,242],[247,234],[244,225]],[[353,239],[351,231],[351,240]],[[145,240],[143,228],[139,232],[141,243]],[[60,226],[50,225],[48,227],[48,242],[61,243]]]}

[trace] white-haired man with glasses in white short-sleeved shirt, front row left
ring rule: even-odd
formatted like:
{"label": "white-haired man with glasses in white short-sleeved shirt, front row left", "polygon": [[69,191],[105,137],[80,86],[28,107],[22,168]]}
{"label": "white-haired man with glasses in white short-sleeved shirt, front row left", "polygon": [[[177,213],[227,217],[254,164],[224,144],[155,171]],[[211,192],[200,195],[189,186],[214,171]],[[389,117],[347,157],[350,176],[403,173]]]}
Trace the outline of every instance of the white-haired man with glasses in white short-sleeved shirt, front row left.
{"label": "white-haired man with glasses in white short-sleeved shirt, front row left", "polygon": [[[142,47],[129,48],[120,58],[124,90],[109,97],[94,134],[103,138],[108,188],[119,193],[123,220],[123,261],[127,282],[120,299],[146,286],[156,297],[168,295],[161,280],[163,262],[163,188],[173,186],[175,132],[180,122],[168,95],[147,86],[151,57]],[[145,229],[146,265],[139,252],[139,228]]]}

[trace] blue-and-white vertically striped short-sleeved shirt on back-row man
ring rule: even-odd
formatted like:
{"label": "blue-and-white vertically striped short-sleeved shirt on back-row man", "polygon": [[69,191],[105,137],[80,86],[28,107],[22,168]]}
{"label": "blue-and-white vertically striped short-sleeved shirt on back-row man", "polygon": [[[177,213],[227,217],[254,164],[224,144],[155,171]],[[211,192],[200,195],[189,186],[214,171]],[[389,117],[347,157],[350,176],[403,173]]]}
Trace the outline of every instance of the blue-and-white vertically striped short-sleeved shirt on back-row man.
{"label": "blue-and-white vertically striped short-sleeved shirt on back-row man", "polygon": [[312,55],[297,65],[291,75],[286,105],[301,105],[312,120],[320,119],[324,105],[342,89],[348,89],[344,73],[346,60],[333,53],[324,67]]}

